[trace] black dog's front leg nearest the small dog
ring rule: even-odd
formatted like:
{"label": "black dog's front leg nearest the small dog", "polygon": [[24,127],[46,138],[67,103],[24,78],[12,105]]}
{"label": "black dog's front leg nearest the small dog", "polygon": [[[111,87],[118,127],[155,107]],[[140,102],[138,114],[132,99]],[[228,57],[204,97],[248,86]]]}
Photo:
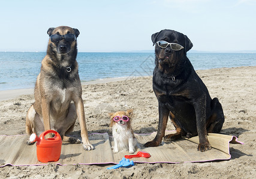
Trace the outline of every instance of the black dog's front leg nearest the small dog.
{"label": "black dog's front leg nearest the small dog", "polygon": [[168,115],[170,110],[166,107],[164,103],[158,101],[158,112],[159,112],[159,122],[158,122],[158,130],[156,137],[152,141],[148,141],[144,144],[144,147],[156,147],[162,142],[162,137],[165,135],[165,129],[168,121]]}

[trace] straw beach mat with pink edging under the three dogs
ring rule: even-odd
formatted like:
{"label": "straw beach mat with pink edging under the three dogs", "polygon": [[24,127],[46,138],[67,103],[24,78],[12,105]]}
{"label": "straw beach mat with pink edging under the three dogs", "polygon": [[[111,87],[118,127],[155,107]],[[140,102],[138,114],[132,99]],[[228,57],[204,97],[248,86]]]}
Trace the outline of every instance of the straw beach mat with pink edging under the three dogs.
{"label": "straw beach mat with pink edging under the three dogs", "polygon": [[[165,134],[174,131],[166,131]],[[237,143],[237,138],[231,135],[209,134],[208,139],[212,145],[212,150],[198,152],[198,137],[182,139],[174,142],[162,142],[159,147],[144,148],[143,144],[152,140],[156,132],[152,134],[135,134],[138,140],[138,151],[150,153],[150,158],[132,158],[139,163],[183,163],[183,162],[206,162],[215,160],[230,159],[229,144]],[[112,152],[113,140],[107,133],[94,133],[89,135],[89,139],[95,150],[85,151],[82,144],[63,143],[61,157],[58,162],[51,162],[59,165],[72,164],[103,164],[119,163],[128,152]],[[0,136],[0,166],[5,165],[47,165],[37,160],[36,145],[27,146],[28,135],[1,135]]]}

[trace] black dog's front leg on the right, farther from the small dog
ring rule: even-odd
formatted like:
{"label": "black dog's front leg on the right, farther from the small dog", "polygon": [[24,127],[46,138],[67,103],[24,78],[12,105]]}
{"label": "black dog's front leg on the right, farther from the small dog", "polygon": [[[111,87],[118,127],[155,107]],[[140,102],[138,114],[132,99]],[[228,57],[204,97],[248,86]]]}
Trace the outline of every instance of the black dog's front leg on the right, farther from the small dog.
{"label": "black dog's front leg on the right, farther from the small dog", "polygon": [[195,117],[197,121],[197,133],[199,137],[199,144],[197,150],[204,152],[206,150],[212,149],[207,138],[206,130],[206,95],[203,94],[201,97],[195,101]]}

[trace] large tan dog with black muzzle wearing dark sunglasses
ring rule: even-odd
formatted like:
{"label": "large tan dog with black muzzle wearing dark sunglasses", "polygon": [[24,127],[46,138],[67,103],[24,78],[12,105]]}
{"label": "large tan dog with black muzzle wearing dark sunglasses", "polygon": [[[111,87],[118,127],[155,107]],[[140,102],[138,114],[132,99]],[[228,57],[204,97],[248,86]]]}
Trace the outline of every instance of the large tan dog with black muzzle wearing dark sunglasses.
{"label": "large tan dog with black muzzle wearing dark sunglasses", "polygon": [[[47,54],[35,83],[35,102],[26,115],[26,133],[31,135],[48,129],[59,132],[63,141],[81,143],[68,137],[79,119],[83,149],[94,147],[88,139],[82,99],[82,85],[78,73],[77,37],[80,32],[67,26],[49,28]],[[51,137],[50,135],[47,137]],[[34,144],[27,141],[27,144]]]}

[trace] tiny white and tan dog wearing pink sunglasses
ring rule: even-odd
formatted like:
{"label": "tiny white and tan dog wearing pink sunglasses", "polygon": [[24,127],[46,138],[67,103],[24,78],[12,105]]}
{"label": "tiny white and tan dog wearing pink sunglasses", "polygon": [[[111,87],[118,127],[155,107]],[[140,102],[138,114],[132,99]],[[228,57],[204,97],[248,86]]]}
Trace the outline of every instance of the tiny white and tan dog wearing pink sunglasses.
{"label": "tiny white and tan dog wearing pink sunglasses", "polygon": [[113,153],[118,153],[121,150],[128,150],[129,153],[135,152],[137,139],[131,128],[132,109],[119,111],[116,113],[109,113],[110,127],[112,128],[112,135],[114,138]]}

